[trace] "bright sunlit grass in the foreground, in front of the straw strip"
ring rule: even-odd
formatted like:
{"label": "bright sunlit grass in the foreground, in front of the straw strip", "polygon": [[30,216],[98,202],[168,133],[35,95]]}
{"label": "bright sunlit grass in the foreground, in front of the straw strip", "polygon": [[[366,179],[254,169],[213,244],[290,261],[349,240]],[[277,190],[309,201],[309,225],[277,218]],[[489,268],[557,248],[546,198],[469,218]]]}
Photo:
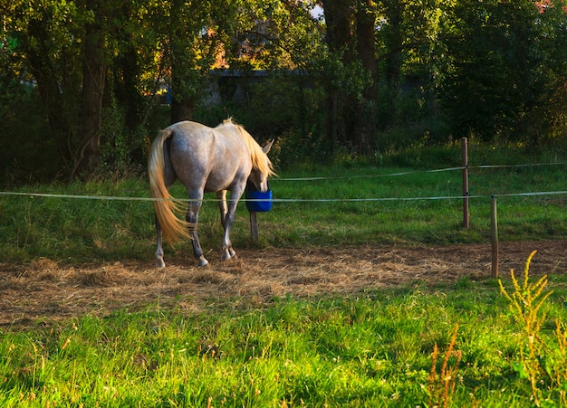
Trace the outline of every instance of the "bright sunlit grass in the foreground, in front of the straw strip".
{"label": "bright sunlit grass in the foreground, in front of the straw strip", "polygon": [[[552,282],[549,314],[565,316],[566,283]],[[0,404],[426,406],[434,345],[447,349],[457,323],[452,406],[529,406],[512,365],[522,334],[490,280],[5,327]]]}

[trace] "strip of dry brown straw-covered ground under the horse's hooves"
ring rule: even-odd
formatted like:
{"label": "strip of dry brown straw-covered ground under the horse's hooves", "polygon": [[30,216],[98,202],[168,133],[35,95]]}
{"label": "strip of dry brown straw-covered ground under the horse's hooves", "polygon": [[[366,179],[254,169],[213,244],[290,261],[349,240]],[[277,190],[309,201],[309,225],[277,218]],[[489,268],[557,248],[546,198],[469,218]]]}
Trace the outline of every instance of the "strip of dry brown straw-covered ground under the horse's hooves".
{"label": "strip of dry brown straw-covered ground under the horse's hooves", "polygon": [[[344,249],[238,250],[238,258],[221,263],[209,253],[211,266],[197,269],[190,257],[166,259],[163,270],[148,261],[67,266],[48,259],[29,265],[0,263],[0,327],[28,326],[40,320],[105,316],[159,302],[164,307],[199,310],[216,299],[262,305],[274,297],[308,298],[352,295],[366,289],[400,285],[451,283],[459,277],[490,276],[491,247],[362,247]],[[567,273],[567,240],[502,242],[500,276],[518,274],[532,251],[530,273]]]}

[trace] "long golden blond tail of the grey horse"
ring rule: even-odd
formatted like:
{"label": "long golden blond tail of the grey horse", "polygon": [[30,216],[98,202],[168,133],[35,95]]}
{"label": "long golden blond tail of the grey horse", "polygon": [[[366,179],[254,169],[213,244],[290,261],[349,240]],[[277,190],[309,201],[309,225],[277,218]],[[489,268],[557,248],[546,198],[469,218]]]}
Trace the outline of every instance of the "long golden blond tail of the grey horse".
{"label": "long golden blond tail of the grey horse", "polygon": [[177,242],[181,237],[189,237],[191,223],[178,218],[176,213],[182,213],[183,209],[179,202],[176,202],[168,192],[165,181],[165,163],[163,155],[163,145],[171,136],[171,129],[159,132],[149,150],[148,175],[149,192],[155,200],[153,201],[154,210],[158,219],[159,226],[166,241],[170,244]]}

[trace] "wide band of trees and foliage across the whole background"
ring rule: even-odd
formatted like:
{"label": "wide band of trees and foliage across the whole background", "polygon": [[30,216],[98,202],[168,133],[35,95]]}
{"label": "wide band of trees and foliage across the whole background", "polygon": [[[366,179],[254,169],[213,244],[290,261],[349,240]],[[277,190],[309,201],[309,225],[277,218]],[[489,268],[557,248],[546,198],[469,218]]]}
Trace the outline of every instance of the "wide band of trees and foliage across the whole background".
{"label": "wide band of trees and foliage across the whole background", "polygon": [[[101,7],[0,4],[5,180],[49,182],[73,174],[84,158],[83,72],[92,68],[84,45],[93,27],[104,35],[107,75],[101,126],[91,129],[101,141],[91,157],[101,163],[89,176],[137,172],[149,138],[171,116],[216,125],[232,115],[259,140],[278,138],[283,166],[371,160],[461,136],[536,146],[564,143],[567,134],[560,1],[542,13],[531,0],[352,4],[336,48],[327,22],[310,14],[312,1],[92,3]],[[334,4],[323,4],[328,17]],[[373,42],[361,41],[368,32],[359,38],[362,14],[378,28]],[[252,99],[209,109],[209,70],[226,64],[271,77],[243,80]],[[174,104],[159,106],[168,87]]]}

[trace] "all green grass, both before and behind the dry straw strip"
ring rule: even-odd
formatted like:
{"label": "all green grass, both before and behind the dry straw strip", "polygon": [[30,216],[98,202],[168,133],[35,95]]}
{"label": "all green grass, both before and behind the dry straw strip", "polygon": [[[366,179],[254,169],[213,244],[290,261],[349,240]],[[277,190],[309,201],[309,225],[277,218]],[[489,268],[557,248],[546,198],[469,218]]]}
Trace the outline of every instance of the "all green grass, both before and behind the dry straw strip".
{"label": "all green grass, both before and behind the dry straw strip", "polygon": [[[426,158],[420,163],[429,163]],[[411,174],[383,176],[400,172]],[[460,195],[460,172],[356,163],[281,172],[271,182],[276,199],[395,200],[275,202],[272,212],[259,214],[259,243],[249,238],[240,205],[232,237],[236,247],[487,242],[491,194],[562,191],[564,174],[564,165],[471,169],[471,194],[482,197],[471,199],[465,229],[461,200],[413,199]],[[373,177],[285,180],[313,175]],[[135,179],[18,191],[148,196],[146,182]],[[183,196],[182,187],[175,186],[174,195]],[[564,239],[562,198],[500,196],[501,239]],[[6,265],[39,257],[69,263],[152,258],[149,202],[0,196],[0,217],[0,235],[8,237],[0,242],[0,262]],[[204,247],[219,246],[217,221],[216,205],[207,202],[199,230]],[[545,283],[553,293],[538,306],[538,346],[549,361],[564,361],[567,280],[557,274]],[[189,294],[178,296],[177,307],[156,303],[102,318],[39,318],[31,327],[0,328],[0,405],[559,406],[564,369],[553,371],[553,362],[526,355],[530,337],[508,307],[509,299],[521,298],[511,295],[514,286],[507,290],[508,298],[495,280],[462,278],[453,286],[416,282],[261,305],[211,299],[197,311],[182,307]],[[550,346],[556,333],[559,346]],[[522,374],[526,362],[537,368],[529,379]]]}

